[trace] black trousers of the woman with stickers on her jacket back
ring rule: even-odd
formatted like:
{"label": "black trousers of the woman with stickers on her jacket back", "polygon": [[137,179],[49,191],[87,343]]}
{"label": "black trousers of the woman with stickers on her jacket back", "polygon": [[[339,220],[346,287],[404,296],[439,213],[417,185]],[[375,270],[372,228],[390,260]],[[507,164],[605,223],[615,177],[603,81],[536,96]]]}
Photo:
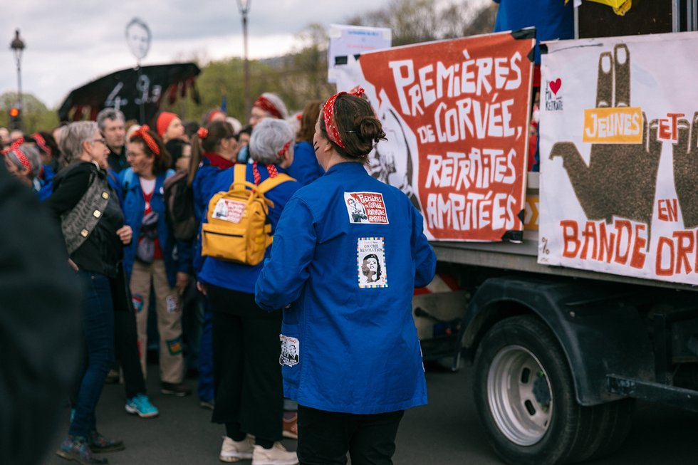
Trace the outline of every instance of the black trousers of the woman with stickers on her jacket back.
{"label": "black trousers of the woman with stickers on her jacket back", "polygon": [[298,405],[301,465],[391,465],[404,410],[373,415],[325,412]]}

